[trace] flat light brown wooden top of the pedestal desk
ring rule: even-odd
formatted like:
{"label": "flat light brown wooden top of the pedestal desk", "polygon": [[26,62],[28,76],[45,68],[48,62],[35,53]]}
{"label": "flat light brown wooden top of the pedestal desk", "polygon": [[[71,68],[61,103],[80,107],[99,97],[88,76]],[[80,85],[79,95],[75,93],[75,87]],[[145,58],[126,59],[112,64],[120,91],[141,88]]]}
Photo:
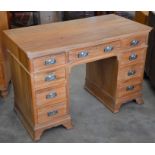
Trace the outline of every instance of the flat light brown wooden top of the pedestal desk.
{"label": "flat light brown wooden top of the pedestal desk", "polygon": [[68,51],[150,31],[151,28],[111,14],[66,22],[6,30],[28,57]]}

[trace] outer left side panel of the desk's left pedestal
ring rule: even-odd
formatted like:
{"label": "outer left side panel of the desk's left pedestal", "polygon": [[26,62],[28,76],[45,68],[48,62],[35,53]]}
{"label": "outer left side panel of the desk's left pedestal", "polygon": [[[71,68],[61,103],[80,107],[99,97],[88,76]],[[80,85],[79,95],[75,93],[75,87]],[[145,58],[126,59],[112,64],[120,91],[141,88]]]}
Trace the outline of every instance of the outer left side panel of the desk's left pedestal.
{"label": "outer left side panel of the desk's left pedestal", "polygon": [[23,124],[31,132],[35,124],[31,76],[11,53],[9,53],[9,60],[14,87],[14,107]]}

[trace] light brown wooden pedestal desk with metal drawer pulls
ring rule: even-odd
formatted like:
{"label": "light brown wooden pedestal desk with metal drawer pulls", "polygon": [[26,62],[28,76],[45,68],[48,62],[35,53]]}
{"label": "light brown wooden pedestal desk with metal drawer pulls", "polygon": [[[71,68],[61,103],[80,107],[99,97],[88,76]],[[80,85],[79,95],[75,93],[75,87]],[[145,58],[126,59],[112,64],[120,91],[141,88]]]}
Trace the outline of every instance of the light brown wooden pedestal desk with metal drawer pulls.
{"label": "light brown wooden pedestal desk with metal drawer pulls", "polygon": [[143,103],[150,27],[117,15],[6,30],[14,108],[34,140],[45,129],[71,128],[69,75],[87,63],[85,88],[112,112]]}

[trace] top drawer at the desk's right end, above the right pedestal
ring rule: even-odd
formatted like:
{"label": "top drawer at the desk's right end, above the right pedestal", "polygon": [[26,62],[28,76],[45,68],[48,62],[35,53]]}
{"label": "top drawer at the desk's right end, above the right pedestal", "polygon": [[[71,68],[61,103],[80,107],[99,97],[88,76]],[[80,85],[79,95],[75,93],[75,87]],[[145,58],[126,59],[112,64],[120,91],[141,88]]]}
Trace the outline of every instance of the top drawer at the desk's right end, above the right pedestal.
{"label": "top drawer at the desk's right end, above the right pedestal", "polygon": [[133,48],[140,45],[146,45],[147,35],[131,36],[122,40],[122,46],[124,48]]}

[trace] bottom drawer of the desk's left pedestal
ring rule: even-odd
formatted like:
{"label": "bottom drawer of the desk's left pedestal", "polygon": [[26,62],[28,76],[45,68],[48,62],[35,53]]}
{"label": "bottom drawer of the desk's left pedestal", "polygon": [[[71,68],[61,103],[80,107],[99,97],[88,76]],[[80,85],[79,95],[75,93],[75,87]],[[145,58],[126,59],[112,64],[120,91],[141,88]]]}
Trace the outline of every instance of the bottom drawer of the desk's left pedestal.
{"label": "bottom drawer of the desk's left pedestal", "polygon": [[48,106],[38,109],[38,123],[54,121],[67,114],[66,103],[59,103],[57,106]]}

